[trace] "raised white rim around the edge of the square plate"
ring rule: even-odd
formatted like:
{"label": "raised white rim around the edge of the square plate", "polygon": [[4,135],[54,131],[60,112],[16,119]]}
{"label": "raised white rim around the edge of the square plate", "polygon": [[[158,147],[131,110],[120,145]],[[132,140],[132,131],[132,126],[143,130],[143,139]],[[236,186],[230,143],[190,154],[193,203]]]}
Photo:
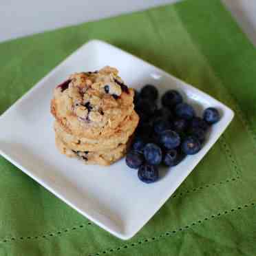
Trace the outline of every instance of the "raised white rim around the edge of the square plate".
{"label": "raised white rim around the edge of the square plate", "polygon": [[[177,78],[171,74],[169,74],[168,72],[161,70],[159,67],[156,67],[155,65],[152,65],[151,63],[143,60],[142,58],[139,58],[138,56],[135,56],[134,54],[131,54],[129,52],[126,52],[125,50],[122,50],[118,47],[116,47],[115,45],[111,45],[110,43],[107,43],[105,41],[101,41],[98,39],[92,39],[87,41],[86,43],[84,43],[83,45],[81,45],[81,47],[78,47],[78,49],[76,49],[74,52],[72,52],[69,56],[67,56],[63,61],[61,61],[60,63],[58,63],[58,65],[56,65],[56,67],[54,67],[50,72],[48,72],[45,76],[43,76],[43,78],[41,78],[34,86],[32,86],[32,88],[30,88],[28,90],[28,92],[26,92],[23,96],[21,96],[18,100],[16,100],[14,103],[12,103],[12,105],[10,107],[8,107],[8,109],[6,109],[6,111],[3,112],[3,114],[1,114],[0,116],[0,122],[1,120],[3,120],[3,118],[5,116],[8,115],[8,113],[10,111],[12,111],[12,108],[15,105],[18,105],[19,103],[21,103],[23,100],[26,100],[26,98],[28,98],[31,94],[34,93],[34,91],[41,86],[41,84],[43,84],[45,82],[45,80],[47,80],[48,77],[52,76],[52,74],[54,74],[58,69],[61,68],[61,66],[63,65],[63,63],[65,63],[66,61],[69,60],[69,58],[72,58],[72,56],[74,56],[77,52],[83,50],[83,47],[85,47],[86,45],[89,44],[100,44],[100,45],[105,45],[107,47],[111,47],[114,50],[117,50],[118,52],[120,52],[121,54],[126,54],[128,56],[131,56],[132,58],[135,58],[136,60],[142,62],[143,64],[152,67],[154,70],[157,70],[158,72],[160,72],[161,74],[163,74],[164,76],[167,76],[171,79],[174,79],[176,82],[179,83],[184,83],[186,85],[186,87],[188,87],[189,89],[193,89],[195,90],[195,92],[200,92],[200,94],[203,97],[210,97],[211,99],[215,100],[215,102],[217,102],[218,104],[222,105],[225,109],[225,111],[228,111],[228,120],[226,120],[224,126],[222,127],[222,130],[217,134],[217,137],[215,138],[215,140],[212,142],[211,146],[209,146],[208,149],[206,149],[206,152],[204,153],[204,155],[202,156],[202,158],[204,158],[204,156],[206,155],[206,153],[208,153],[209,149],[211,149],[211,147],[213,147],[213,145],[215,144],[215,142],[220,138],[220,136],[224,133],[224,131],[226,130],[226,128],[228,127],[228,125],[230,125],[231,121],[233,120],[235,113],[234,111],[224,105],[224,103],[221,103],[219,100],[213,98],[213,96],[206,94],[205,92],[202,92],[200,89],[193,87],[193,85],[186,83],[185,81],[182,81],[180,78]],[[56,189],[52,189],[52,187],[50,185],[48,185],[47,183],[45,183],[44,180],[42,180],[41,178],[37,178],[36,175],[34,175],[33,171],[30,171],[28,169],[26,169],[25,167],[22,166],[22,164],[19,164],[19,162],[17,162],[16,160],[12,159],[12,156],[10,156],[8,153],[6,153],[4,151],[4,149],[1,149],[1,144],[0,144],[0,155],[3,156],[3,158],[6,158],[6,160],[8,160],[9,162],[11,162],[12,164],[14,164],[14,166],[16,166],[17,168],[21,169],[21,171],[23,171],[23,173],[27,174],[28,176],[30,176],[30,178],[32,178],[33,180],[35,180],[36,182],[38,182],[39,184],[41,184],[41,186],[45,187],[45,189],[47,189],[48,191],[50,191],[51,193],[53,193],[57,198],[61,199],[63,202],[65,202],[67,205],[71,206],[73,209],[75,209],[76,211],[78,211],[78,213],[80,213],[81,215],[87,217],[87,219],[89,219],[90,221],[94,222],[95,224],[97,224],[98,226],[100,226],[100,228],[105,229],[105,231],[108,231],[109,233],[111,233],[112,235],[123,239],[123,240],[127,240],[130,239],[131,237],[133,237],[136,233],[138,233],[138,231],[140,231],[140,229],[145,226],[145,224],[147,224],[147,222],[149,222],[149,220],[151,219],[151,217],[153,217],[153,215],[156,214],[157,211],[159,211],[159,209],[162,207],[162,205],[167,202],[167,200],[171,197],[171,195],[174,193],[174,191],[176,189],[178,189],[178,187],[180,186],[180,184],[186,179],[186,177],[193,171],[193,169],[195,169],[195,167],[198,165],[198,163],[202,160],[202,158],[200,158],[200,160],[198,161],[197,164],[195,164],[195,167],[193,167],[191,169],[191,171],[189,171],[189,173],[185,173],[184,177],[182,177],[182,181],[179,182],[178,186],[175,188],[175,190],[173,192],[167,193],[168,195],[165,196],[164,198],[161,198],[158,206],[156,208],[153,209],[153,214],[151,215],[151,217],[149,217],[148,220],[145,220],[145,222],[143,222],[141,225],[138,225],[136,228],[134,228],[133,232],[127,232],[127,233],[121,233],[118,231],[115,231],[111,228],[109,228],[109,226],[106,226],[105,224],[103,224],[102,222],[99,222],[97,219],[94,219],[94,217],[92,215],[87,214],[85,211],[79,209],[77,206],[75,206],[72,201],[67,200],[63,195],[61,195],[61,193],[59,193],[58,191],[56,191]]]}

